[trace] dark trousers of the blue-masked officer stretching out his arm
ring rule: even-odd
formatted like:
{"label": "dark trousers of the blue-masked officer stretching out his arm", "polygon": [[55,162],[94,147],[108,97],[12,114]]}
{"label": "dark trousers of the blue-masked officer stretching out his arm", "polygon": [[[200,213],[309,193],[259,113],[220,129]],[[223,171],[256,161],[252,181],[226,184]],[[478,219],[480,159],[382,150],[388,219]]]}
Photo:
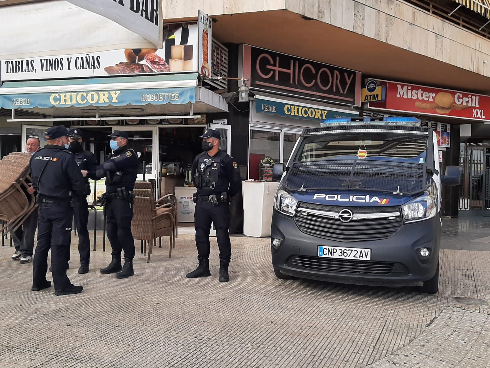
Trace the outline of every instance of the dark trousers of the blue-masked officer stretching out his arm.
{"label": "dark trousers of the blue-masked officer stretching out his arm", "polygon": [[[133,200],[113,198],[105,204],[107,237],[111,243],[112,255],[133,259],[135,254],[131,220],[133,219]],[[149,221],[149,220],[148,220]]]}

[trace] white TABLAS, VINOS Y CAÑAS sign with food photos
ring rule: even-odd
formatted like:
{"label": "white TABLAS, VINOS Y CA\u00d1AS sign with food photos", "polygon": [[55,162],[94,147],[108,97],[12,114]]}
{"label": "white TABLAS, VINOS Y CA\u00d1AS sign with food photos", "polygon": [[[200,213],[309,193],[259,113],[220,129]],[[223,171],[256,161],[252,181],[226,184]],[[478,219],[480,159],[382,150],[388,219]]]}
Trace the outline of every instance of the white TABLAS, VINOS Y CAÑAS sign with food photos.
{"label": "white TABLAS, VINOS Y CA\u00d1AS sign with food photos", "polygon": [[[165,24],[164,46],[161,49],[110,50],[2,60],[0,79],[35,80],[197,72],[197,36],[196,22]],[[202,62],[199,65],[201,64]]]}

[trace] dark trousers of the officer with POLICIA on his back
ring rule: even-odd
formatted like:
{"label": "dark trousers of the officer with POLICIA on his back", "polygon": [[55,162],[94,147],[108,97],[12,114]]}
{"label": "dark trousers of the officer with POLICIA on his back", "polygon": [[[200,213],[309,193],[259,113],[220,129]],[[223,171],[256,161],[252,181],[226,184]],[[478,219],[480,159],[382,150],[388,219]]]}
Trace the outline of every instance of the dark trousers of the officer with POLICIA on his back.
{"label": "dark trousers of the officer with POLICIA on his back", "polygon": [[33,286],[46,280],[48,252],[51,249],[51,267],[54,289],[66,289],[71,285],[66,275],[72,240],[73,209],[70,204],[39,204],[37,246],[32,268]]}

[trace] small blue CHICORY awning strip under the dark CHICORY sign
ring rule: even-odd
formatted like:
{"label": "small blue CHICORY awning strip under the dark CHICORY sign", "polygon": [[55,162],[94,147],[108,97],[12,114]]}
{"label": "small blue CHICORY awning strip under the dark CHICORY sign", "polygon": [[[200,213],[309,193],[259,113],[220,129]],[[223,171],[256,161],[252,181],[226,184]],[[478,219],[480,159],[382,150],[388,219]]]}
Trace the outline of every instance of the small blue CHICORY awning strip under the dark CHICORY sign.
{"label": "small blue CHICORY awning strip under the dark CHICORY sign", "polygon": [[258,113],[277,115],[294,119],[313,120],[321,122],[325,119],[357,117],[358,114],[350,114],[342,111],[330,110],[320,107],[288,104],[278,101],[262,100],[257,98],[255,110]]}

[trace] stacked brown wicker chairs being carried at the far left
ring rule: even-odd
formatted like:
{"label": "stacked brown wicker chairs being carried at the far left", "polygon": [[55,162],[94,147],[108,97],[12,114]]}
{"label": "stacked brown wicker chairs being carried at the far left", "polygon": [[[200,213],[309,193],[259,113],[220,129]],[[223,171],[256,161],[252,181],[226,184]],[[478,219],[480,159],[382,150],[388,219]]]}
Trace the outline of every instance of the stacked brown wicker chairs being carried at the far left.
{"label": "stacked brown wicker chairs being carried at the far left", "polygon": [[28,194],[26,180],[29,178],[31,156],[25,153],[11,153],[0,160],[0,231],[13,231],[37,207],[36,198]]}

